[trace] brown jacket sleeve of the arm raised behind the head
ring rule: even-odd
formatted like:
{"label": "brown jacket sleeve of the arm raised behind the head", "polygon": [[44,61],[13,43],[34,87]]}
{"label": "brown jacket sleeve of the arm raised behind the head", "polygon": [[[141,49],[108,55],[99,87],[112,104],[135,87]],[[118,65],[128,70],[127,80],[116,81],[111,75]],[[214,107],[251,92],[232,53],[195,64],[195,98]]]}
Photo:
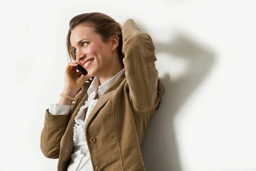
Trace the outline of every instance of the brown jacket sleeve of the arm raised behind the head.
{"label": "brown jacket sleeve of the arm raised behind the head", "polygon": [[[138,112],[156,108],[160,101],[160,80],[155,67],[155,47],[151,36],[140,30],[132,19],[122,28],[122,52],[130,101]],[[160,94],[159,94],[160,93]]]}

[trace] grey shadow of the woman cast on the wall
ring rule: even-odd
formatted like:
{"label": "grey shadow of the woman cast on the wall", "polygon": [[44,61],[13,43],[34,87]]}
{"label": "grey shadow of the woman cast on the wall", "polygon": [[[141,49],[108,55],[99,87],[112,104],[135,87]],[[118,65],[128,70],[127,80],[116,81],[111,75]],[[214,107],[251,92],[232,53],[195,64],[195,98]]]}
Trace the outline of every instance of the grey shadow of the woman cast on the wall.
{"label": "grey shadow of the woman cast on the wall", "polygon": [[215,63],[215,54],[181,33],[170,44],[154,42],[154,45],[156,53],[182,58],[188,62],[189,68],[178,80],[173,81],[168,74],[160,78],[165,93],[141,145],[143,161],[146,171],[182,171],[174,128],[175,115],[209,75]]}

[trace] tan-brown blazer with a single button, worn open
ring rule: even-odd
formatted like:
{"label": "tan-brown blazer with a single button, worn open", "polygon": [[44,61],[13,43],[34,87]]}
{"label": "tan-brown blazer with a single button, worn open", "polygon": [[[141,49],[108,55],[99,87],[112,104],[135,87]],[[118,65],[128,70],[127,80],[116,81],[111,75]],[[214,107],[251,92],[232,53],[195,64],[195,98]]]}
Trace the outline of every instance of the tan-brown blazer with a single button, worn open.
{"label": "tan-brown blazer with a single button, worn open", "polygon": [[[122,28],[125,73],[99,98],[84,127],[93,171],[145,171],[140,145],[161,98],[152,39],[129,19]],[[67,115],[46,109],[41,150],[66,171],[73,153],[74,118],[88,98],[84,84]]]}

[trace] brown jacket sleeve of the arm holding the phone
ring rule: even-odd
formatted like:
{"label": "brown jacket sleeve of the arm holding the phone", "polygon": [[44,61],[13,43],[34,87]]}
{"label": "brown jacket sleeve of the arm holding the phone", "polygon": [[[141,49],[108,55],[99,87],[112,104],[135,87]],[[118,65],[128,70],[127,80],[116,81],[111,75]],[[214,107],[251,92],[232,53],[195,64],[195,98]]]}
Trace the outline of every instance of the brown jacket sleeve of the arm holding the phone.
{"label": "brown jacket sleeve of the arm holding the phone", "polygon": [[[71,105],[71,110],[73,106],[74,104]],[[70,120],[70,113],[68,112],[66,115],[51,115],[49,109],[46,109],[40,142],[40,148],[45,157],[51,159],[59,157],[61,138]]]}

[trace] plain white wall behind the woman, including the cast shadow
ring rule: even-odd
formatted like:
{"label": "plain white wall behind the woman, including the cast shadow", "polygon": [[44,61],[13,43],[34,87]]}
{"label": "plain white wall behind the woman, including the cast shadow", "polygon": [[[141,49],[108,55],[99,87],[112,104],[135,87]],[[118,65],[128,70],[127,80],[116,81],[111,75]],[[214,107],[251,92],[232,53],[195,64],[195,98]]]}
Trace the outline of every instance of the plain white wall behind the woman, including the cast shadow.
{"label": "plain white wall behind the woman, including the cast shadow", "polygon": [[255,0],[0,1],[0,171],[55,171],[40,150],[77,14],[133,18],[166,92],[142,144],[147,171],[256,171]]}

